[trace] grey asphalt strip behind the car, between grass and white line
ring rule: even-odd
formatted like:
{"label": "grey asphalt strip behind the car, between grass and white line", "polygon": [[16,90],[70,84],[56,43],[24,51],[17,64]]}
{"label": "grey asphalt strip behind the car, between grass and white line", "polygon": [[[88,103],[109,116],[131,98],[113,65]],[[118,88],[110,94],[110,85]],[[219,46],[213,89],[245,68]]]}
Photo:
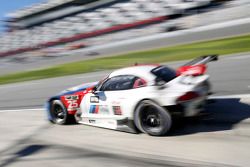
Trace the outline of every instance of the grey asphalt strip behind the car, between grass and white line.
{"label": "grey asphalt strip behind the car, between grass and white line", "polygon": [[[176,68],[183,62],[169,63]],[[133,62],[131,62],[133,64]],[[219,61],[209,63],[213,91],[216,95],[250,93],[250,54],[221,57]],[[110,71],[43,79],[0,86],[0,110],[20,108],[41,108],[50,96],[79,84],[102,79]]]}

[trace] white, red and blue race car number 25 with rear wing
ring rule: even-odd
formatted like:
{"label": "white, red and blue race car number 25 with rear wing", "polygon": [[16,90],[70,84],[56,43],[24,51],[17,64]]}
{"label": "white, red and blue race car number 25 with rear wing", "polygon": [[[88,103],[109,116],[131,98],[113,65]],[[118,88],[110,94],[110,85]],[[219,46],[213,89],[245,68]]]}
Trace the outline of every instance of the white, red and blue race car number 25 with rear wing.
{"label": "white, red and blue race car number 25 with rear wing", "polygon": [[177,70],[157,64],[115,70],[99,82],[51,97],[46,103],[48,120],[166,135],[174,115],[190,117],[204,109],[211,92],[206,64],[217,59],[202,56]]}

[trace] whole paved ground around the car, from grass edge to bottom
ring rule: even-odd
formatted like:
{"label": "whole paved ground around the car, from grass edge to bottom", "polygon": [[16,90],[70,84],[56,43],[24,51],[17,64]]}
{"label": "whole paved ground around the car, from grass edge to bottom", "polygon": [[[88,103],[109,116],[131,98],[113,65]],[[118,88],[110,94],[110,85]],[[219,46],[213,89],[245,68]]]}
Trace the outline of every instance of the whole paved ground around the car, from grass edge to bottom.
{"label": "whole paved ground around the car, from grass edge to bottom", "polygon": [[83,125],[57,126],[45,120],[39,108],[47,97],[96,81],[109,71],[2,85],[0,167],[249,166],[249,64],[247,53],[210,63],[214,96],[220,98],[208,104],[202,116],[176,120],[165,137]]}

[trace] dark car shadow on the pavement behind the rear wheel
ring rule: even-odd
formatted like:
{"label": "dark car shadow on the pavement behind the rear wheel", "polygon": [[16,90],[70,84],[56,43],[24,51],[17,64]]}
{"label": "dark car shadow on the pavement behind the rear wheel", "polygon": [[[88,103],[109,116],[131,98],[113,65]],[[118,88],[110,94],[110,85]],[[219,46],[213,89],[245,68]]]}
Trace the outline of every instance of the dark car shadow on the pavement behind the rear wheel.
{"label": "dark car shadow on the pavement behind the rear wheel", "polygon": [[239,98],[212,101],[200,116],[175,118],[168,136],[231,130],[241,121],[250,118],[250,105],[241,102]]}

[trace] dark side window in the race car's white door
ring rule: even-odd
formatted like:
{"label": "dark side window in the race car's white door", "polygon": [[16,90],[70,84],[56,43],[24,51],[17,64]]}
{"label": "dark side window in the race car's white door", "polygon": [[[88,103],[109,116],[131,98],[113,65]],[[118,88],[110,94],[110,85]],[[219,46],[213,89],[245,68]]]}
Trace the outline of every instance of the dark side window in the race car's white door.
{"label": "dark side window in the race car's white door", "polygon": [[127,90],[132,89],[134,82],[136,80],[135,76],[122,75],[116,76],[108,79],[100,88],[100,91],[116,91],[116,90]]}

